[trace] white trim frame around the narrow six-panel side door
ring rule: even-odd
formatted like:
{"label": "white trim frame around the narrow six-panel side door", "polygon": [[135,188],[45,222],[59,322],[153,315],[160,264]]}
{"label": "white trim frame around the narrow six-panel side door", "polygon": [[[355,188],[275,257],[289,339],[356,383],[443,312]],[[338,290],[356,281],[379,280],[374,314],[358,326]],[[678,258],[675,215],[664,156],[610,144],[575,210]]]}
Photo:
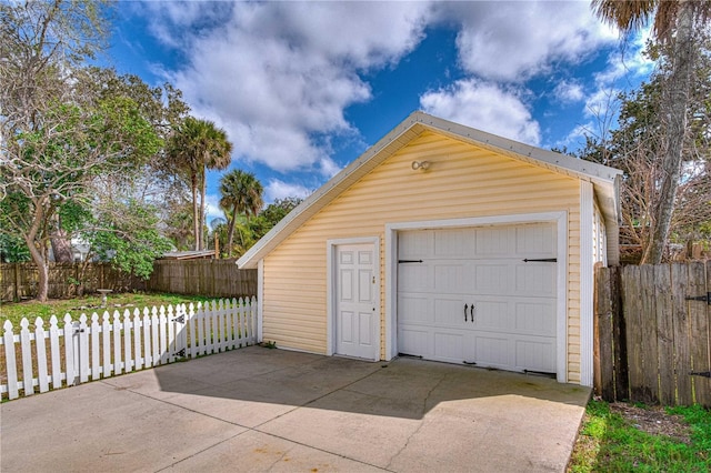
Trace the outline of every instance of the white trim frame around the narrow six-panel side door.
{"label": "white trim frame around the narrow six-panel side door", "polygon": [[[326,242],[326,354],[328,356],[332,356],[336,354],[336,338],[337,334],[337,325],[336,325],[336,306],[338,301],[336,300],[337,291],[336,284],[338,283],[337,273],[336,273],[336,264],[338,263],[336,259],[336,251],[339,245],[343,244],[372,244],[373,245],[373,274],[375,276],[375,314],[374,319],[375,323],[375,333],[374,340],[378,342],[373,344],[374,353],[370,360],[379,361],[380,360],[380,346],[381,346],[381,309],[380,309],[380,236],[360,236],[360,238],[347,238],[347,239],[332,239],[327,240]],[[369,360],[369,359],[365,359]]]}

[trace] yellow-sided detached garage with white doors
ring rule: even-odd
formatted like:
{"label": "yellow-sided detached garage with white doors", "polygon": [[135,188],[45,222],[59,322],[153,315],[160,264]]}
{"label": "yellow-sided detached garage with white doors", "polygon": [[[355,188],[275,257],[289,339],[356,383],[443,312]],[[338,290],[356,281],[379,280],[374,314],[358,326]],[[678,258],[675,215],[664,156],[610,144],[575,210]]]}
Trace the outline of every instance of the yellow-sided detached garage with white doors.
{"label": "yellow-sided detached garage with white doors", "polygon": [[621,171],[414,112],[239,261],[260,339],[592,384]]}

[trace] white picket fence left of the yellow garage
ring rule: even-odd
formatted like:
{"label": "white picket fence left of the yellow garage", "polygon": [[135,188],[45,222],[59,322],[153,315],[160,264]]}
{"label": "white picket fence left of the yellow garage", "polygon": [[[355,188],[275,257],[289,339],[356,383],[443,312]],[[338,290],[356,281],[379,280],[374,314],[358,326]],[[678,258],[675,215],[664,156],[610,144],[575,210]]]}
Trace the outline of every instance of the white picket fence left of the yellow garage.
{"label": "white picket fence left of the yellow garage", "polygon": [[79,320],[67,314],[62,326],[52,315],[49,330],[40,318],[33,326],[22,319],[20,333],[10,321],[3,329],[0,392],[12,400],[254,344],[257,300],[94,312]]}

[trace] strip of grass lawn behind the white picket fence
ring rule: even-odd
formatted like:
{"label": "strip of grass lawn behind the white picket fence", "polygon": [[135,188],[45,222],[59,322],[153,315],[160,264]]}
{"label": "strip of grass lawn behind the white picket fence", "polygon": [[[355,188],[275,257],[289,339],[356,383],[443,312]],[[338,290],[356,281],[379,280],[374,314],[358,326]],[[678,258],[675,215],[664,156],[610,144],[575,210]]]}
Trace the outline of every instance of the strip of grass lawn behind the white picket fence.
{"label": "strip of grass lawn behind the white picket fence", "polygon": [[[31,323],[39,316],[44,321],[49,321],[52,315],[62,319],[69,313],[73,319],[79,319],[82,313],[90,316],[93,312],[103,314],[106,310],[113,313],[119,310],[121,313],[126,309],[131,311],[134,308],[143,309],[153,305],[176,305],[180,303],[197,303],[200,301],[211,301],[214,298],[203,298],[199,295],[180,295],[180,294],[148,294],[148,293],[117,293],[109,294],[107,308],[100,308],[101,296],[88,295],[84,298],[73,298],[63,300],[49,300],[47,302],[37,302],[33,300],[22,302],[2,302],[0,303],[0,328],[6,320],[12,322],[14,326],[20,326],[22,318],[27,318]],[[82,309],[83,308],[83,309]]]}

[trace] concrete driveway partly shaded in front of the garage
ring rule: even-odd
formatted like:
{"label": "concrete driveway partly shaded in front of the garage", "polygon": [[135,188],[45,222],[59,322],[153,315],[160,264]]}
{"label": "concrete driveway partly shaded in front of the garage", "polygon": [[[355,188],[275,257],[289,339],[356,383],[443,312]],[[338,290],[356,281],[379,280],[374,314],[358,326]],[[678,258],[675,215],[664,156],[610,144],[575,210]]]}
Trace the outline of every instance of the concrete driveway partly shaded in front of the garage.
{"label": "concrete driveway partly shaded in front of the garage", "polygon": [[0,470],[564,471],[590,390],[259,346],[0,406]]}

